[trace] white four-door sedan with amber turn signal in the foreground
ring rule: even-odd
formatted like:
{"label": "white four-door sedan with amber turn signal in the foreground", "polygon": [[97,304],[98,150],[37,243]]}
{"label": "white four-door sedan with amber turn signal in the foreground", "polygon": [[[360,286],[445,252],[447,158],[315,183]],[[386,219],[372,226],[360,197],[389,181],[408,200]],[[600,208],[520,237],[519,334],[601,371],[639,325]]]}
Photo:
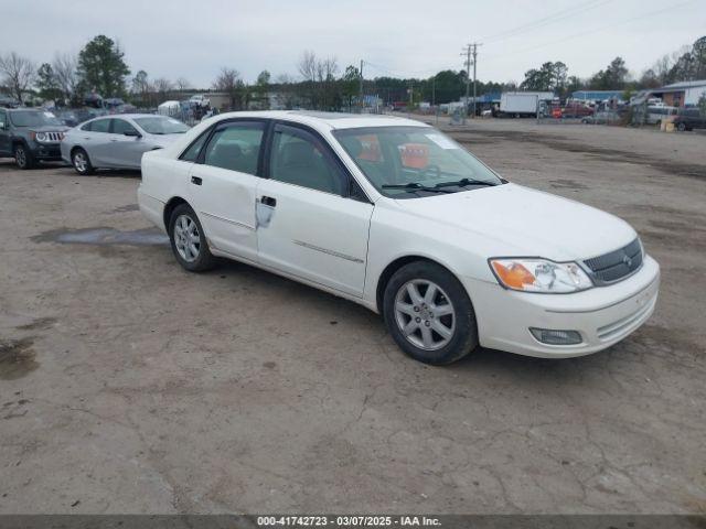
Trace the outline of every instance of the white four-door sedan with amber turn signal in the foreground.
{"label": "white four-door sedan with amber turn signal in the foreground", "polygon": [[186,270],[226,257],[355,301],[429,364],[478,345],[595,353],[657,299],[627,223],[509,183],[413,120],[221,115],[143,156],[138,199]]}

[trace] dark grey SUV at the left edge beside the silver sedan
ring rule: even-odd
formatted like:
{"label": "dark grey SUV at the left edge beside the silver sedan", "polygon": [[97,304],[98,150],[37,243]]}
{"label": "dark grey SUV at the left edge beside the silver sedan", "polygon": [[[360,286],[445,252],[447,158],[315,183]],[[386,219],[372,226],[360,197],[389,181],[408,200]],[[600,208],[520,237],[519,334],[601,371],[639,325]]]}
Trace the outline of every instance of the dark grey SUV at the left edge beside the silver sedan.
{"label": "dark grey SUV at the left edge beside the silver sedan", "polygon": [[67,130],[50,111],[0,108],[0,158],[13,156],[19,169],[61,161],[60,142]]}

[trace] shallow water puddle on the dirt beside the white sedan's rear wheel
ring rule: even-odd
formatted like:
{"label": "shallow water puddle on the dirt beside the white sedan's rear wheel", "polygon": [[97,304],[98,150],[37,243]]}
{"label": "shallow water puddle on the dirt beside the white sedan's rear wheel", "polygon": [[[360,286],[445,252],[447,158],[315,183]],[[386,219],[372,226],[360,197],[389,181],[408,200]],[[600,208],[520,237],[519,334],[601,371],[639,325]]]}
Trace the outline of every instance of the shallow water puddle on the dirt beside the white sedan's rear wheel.
{"label": "shallow water puddle on the dirt beside the white sedan's rear wheel", "polygon": [[120,231],[115,228],[60,228],[31,237],[34,242],[60,242],[64,245],[128,245],[128,246],[154,246],[168,245],[169,237],[157,228],[136,229]]}

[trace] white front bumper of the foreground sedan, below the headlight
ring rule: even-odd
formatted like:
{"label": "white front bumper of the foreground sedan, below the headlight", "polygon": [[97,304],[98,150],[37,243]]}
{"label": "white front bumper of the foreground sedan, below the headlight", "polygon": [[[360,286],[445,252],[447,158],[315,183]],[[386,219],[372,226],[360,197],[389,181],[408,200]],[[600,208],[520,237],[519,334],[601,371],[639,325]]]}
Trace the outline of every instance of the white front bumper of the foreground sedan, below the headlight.
{"label": "white front bumper of the foreground sedan, below the headlight", "polygon": [[[463,280],[483,347],[542,358],[570,358],[610,347],[640,327],[654,312],[660,266],[649,256],[640,271],[619,283],[574,294],[505,290],[498,283]],[[547,345],[530,327],[578,331],[577,345]]]}

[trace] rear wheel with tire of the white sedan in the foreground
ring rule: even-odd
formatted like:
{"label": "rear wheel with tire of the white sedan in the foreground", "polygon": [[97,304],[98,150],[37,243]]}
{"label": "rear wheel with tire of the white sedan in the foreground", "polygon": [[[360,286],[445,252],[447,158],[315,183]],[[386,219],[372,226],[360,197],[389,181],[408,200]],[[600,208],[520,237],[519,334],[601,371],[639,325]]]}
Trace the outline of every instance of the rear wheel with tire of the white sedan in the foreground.
{"label": "rear wheel with tire of the white sedan in the foreground", "polygon": [[199,217],[188,204],[180,204],[172,212],[169,240],[176,261],[185,270],[205,272],[215,266],[215,257],[208,249]]}

